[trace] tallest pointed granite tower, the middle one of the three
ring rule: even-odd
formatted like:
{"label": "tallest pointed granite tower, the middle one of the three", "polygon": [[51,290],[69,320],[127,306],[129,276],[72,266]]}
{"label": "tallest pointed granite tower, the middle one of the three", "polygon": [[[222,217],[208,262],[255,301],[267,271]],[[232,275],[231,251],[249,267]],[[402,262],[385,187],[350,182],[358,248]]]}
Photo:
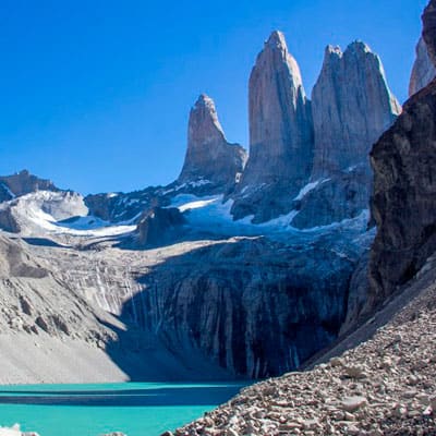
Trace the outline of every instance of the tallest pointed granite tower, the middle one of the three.
{"label": "tallest pointed granite tower, the middle one of the three", "polygon": [[232,208],[265,221],[289,210],[312,168],[313,129],[300,68],[283,35],[265,43],[249,85],[250,157]]}

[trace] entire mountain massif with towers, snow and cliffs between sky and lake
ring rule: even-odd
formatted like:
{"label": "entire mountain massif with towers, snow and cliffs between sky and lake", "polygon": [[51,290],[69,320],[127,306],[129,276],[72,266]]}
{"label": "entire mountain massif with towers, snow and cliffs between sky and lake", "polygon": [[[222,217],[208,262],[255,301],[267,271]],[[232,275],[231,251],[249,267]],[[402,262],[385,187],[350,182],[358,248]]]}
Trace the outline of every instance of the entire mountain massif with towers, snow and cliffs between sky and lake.
{"label": "entire mountain massif with towers, snow and cliffs between sky and lake", "polygon": [[419,146],[433,137],[427,39],[402,109],[362,41],[326,48],[308,98],[274,32],[250,76],[249,152],[202,94],[167,186],[84,197],[1,177],[0,354],[14,370],[0,380],[264,378],[355,328],[436,249]]}

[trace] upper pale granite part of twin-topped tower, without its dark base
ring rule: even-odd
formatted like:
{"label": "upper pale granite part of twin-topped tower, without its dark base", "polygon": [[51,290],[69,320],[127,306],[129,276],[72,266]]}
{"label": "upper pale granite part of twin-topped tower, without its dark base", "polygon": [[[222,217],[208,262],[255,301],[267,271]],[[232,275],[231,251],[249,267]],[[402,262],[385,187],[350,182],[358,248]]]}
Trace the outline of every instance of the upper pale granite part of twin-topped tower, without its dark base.
{"label": "upper pale granite part of twin-topped tower, without its dark base", "polygon": [[312,180],[366,164],[372,145],[401,107],[386,82],[383,64],[364,43],[342,53],[327,47],[312,93],[315,155]]}

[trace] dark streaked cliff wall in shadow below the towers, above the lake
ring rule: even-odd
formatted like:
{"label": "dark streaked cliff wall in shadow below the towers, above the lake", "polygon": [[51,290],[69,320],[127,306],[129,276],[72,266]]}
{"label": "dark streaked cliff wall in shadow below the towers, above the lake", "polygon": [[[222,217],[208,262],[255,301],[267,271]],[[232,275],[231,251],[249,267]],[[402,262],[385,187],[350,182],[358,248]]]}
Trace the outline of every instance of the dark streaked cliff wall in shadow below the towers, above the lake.
{"label": "dark streaked cliff wall in shadow below the towers, above the lake", "polygon": [[154,268],[129,307],[170,350],[199,351],[238,375],[279,375],[330,343],[343,320],[356,258],[328,245],[217,243]]}

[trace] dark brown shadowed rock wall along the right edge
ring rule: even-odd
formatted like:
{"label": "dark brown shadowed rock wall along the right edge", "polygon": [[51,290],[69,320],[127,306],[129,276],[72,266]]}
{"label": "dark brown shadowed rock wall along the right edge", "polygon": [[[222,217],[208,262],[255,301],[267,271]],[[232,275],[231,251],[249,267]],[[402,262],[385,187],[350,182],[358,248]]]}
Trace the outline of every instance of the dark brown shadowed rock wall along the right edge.
{"label": "dark brown shadowed rock wall along the right edge", "polygon": [[[436,1],[424,11],[423,23],[435,63]],[[371,157],[378,232],[370,259],[370,307],[410,280],[436,250],[436,81],[407,101]]]}

